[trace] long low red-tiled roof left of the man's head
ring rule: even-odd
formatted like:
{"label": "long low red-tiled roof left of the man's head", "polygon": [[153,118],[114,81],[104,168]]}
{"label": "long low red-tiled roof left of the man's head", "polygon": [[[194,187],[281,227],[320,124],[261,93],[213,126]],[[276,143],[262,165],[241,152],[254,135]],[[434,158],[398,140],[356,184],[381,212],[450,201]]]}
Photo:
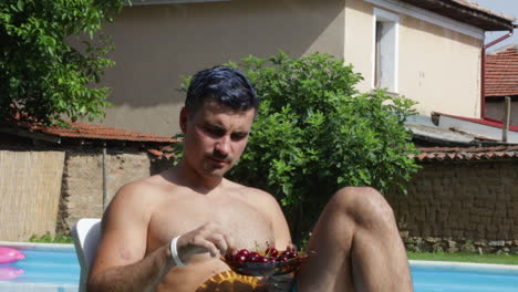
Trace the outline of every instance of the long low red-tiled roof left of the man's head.
{"label": "long low red-tiled roof left of the man's head", "polygon": [[176,139],[155,134],[145,134],[120,128],[96,126],[84,123],[68,122],[70,127],[61,126],[44,126],[31,122],[1,122],[0,128],[21,128],[30,133],[39,133],[48,136],[61,138],[85,138],[85,139],[104,139],[104,140],[122,140],[122,142],[144,142],[144,143],[174,143]]}

